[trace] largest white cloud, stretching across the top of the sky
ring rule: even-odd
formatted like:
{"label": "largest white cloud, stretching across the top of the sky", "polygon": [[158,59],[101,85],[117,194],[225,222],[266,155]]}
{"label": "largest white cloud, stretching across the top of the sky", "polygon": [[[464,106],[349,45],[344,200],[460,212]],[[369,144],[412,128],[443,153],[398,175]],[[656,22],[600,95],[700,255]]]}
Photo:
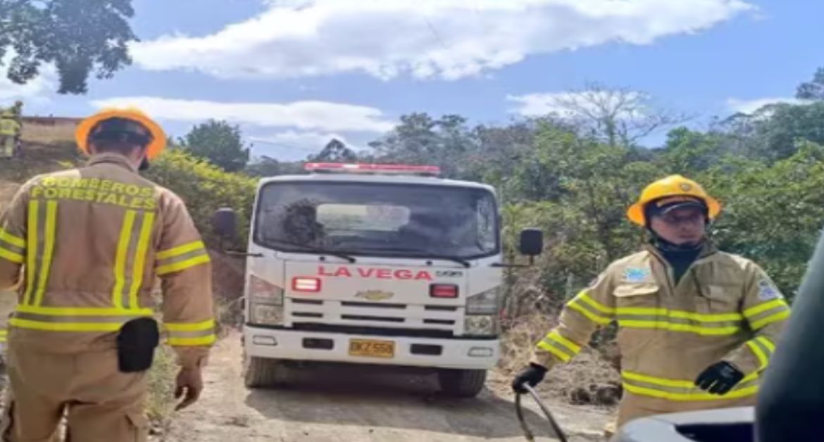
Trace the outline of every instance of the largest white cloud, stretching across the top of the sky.
{"label": "largest white cloud, stretching across the top of the sky", "polygon": [[384,79],[456,79],[532,54],[613,41],[650,44],[755,11],[743,0],[307,0],[268,9],[212,35],[134,44],[147,70],[217,77],[365,72]]}

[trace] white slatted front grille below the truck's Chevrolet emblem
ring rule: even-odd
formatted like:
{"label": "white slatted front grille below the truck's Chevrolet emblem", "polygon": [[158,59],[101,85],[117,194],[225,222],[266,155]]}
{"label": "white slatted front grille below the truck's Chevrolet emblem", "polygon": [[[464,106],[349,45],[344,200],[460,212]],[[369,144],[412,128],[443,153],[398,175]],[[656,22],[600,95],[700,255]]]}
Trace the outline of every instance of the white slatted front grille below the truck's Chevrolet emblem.
{"label": "white slatted front grille below the truck's Chevrolet emblem", "polygon": [[[369,301],[288,298],[287,323],[346,329],[433,331],[452,337],[463,329],[463,309],[452,305],[407,305]],[[459,333],[456,333],[459,332]]]}

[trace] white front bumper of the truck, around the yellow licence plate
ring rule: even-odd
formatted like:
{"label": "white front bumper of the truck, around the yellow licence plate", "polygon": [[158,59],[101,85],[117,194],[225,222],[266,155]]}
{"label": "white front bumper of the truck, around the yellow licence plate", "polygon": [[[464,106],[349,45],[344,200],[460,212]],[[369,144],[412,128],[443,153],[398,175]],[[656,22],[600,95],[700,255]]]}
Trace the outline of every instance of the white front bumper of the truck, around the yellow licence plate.
{"label": "white front bumper of the truck, around the yellow licence plate", "polygon": [[[355,364],[489,370],[498,362],[500,356],[499,339],[384,337],[258,328],[249,325],[243,327],[243,338],[248,356],[295,361],[335,361]],[[307,339],[310,340],[308,346]],[[349,342],[352,339],[395,342],[395,356],[392,358],[350,356]],[[312,342],[323,342],[330,346],[316,348]],[[421,347],[440,348],[440,354],[419,354]]]}

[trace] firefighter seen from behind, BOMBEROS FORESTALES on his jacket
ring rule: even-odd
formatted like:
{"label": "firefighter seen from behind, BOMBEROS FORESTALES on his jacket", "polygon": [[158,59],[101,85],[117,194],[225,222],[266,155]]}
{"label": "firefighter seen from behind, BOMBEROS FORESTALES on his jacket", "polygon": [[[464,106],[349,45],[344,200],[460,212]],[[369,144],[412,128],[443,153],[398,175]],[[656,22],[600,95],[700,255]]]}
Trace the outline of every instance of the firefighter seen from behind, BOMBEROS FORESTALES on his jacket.
{"label": "firefighter seen from behind, BOMBEROS FORESTALES on his jacket", "polygon": [[111,109],[80,123],[77,144],[87,165],[31,179],[0,220],[0,289],[22,279],[2,440],[55,440],[64,414],[70,440],[146,440],[161,337],[180,364],[178,407],[203,388],[215,340],[207,250],[180,198],[138,174],[166,135],[138,110]]}

